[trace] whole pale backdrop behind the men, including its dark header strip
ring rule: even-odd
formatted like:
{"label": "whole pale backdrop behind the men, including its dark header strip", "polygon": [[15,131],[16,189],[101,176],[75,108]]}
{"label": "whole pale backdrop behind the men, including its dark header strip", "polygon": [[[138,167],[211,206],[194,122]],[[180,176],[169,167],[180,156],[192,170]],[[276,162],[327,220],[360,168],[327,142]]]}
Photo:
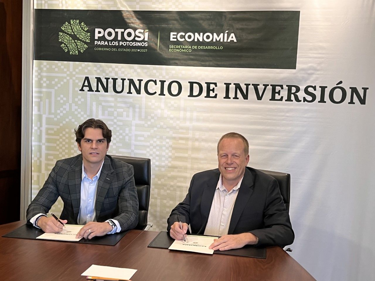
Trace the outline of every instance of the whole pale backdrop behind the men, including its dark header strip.
{"label": "whole pale backdrop behind the men, including its dark header strip", "polygon": [[374,1],[235,2],[34,1],[32,197],[99,118],[108,154],[151,158],[166,230],[238,132],[249,166],[291,174],[291,256],[317,280],[375,280]]}

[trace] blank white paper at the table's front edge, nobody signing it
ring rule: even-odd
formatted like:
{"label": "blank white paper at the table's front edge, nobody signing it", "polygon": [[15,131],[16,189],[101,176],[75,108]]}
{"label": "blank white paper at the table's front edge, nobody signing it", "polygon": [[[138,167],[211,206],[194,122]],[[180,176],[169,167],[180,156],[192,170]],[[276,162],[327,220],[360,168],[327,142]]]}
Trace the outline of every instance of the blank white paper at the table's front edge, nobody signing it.
{"label": "blank white paper at the table's front edge, nobody signing it", "polygon": [[92,265],[83,274],[83,276],[95,276],[119,279],[119,280],[129,280],[135,274],[136,269],[130,268],[113,268],[112,266],[102,266],[102,265]]}

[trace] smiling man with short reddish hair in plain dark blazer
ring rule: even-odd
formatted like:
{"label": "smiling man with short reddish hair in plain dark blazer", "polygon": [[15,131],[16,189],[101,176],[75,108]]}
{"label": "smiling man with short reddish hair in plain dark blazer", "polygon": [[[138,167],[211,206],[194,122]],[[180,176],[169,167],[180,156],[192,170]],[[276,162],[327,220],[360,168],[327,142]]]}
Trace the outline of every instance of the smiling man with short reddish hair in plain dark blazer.
{"label": "smiling man with short reddish hair in plain dark blazer", "polygon": [[221,236],[211,244],[213,250],[292,244],[294,232],[278,182],[246,167],[248,141],[238,133],[223,135],[217,159],[218,169],[193,176],[185,199],[169,215],[169,235],[183,239],[190,224],[192,234]]}

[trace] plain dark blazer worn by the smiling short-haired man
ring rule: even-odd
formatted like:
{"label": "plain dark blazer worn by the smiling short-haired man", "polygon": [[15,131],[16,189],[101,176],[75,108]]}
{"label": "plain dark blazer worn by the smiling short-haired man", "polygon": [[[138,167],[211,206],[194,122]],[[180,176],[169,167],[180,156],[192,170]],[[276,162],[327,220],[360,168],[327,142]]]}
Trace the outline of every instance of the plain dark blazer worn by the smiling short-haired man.
{"label": "plain dark blazer worn by the smiling short-haired man", "polygon": [[[169,215],[168,232],[177,221],[178,214],[183,222],[190,224],[193,234],[204,233],[219,176],[219,169],[196,173],[193,176],[185,199]],[[245,169],[228,234],[244,232],[251,232],[259,238],[258,247],[283,247],[294,241],[294,232],[278,182],[251,167]]]}

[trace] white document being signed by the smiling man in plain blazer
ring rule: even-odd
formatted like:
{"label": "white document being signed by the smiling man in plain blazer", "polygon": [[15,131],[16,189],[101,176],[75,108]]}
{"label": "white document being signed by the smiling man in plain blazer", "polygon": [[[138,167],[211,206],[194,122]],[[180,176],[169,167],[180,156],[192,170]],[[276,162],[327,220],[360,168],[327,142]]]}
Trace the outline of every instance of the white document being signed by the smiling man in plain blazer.
{"label": "white document being signed by the smiling man in plain blazer", "polygon": [[185,235],[185,241],[175,240],[169,250],[188,251],[202,254],[213,254],[213,250],[209,249],[213,243],[213,239],[219,237],[213,236],[197,236],[197,235]]}

